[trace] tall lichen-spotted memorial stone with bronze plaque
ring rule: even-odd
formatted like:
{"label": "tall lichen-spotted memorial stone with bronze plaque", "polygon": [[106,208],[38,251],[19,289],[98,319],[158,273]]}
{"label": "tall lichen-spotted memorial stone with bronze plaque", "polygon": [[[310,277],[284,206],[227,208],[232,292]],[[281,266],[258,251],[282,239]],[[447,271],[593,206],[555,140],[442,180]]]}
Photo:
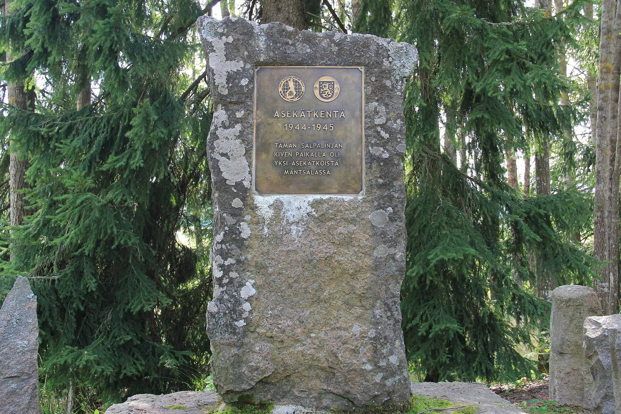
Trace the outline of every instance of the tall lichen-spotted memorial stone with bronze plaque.
{"label": "tall lichen-spotted memorial stone with bronze plaque", "polygon": [[407,43],[197,22],[214,117],[214,384],[225,402],[403,401]]}

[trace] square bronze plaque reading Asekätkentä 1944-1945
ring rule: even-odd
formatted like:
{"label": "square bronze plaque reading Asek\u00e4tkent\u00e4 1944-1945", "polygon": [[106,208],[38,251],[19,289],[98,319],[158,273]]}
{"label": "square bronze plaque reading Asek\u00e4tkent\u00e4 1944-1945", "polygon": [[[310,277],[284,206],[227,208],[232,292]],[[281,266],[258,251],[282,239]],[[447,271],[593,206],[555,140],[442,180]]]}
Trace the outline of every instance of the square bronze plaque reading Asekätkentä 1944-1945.
{"label": "square bronze plaque reading Asek\u00e4tkent\u00e4 1944-1945", "polygon": [[255,70],[258,194],[363,193],[364,69]]}

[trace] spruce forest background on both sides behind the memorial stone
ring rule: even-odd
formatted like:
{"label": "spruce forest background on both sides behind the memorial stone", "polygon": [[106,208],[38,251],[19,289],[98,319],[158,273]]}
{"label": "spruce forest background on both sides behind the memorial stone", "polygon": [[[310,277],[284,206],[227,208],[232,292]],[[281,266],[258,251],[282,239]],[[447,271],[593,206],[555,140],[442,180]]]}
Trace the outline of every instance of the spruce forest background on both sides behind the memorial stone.
{"label": "spruce forest background on both sides behind the memorial stone", "polygon": [[545,372],[547,295],[561,284],[593,286],[618,312],[615,0],[3,9],[0,299],[18,274],[39,298],[46,413],[210,386],[212,107],[194,23],[212,12],[418,48],[401,292],[415,379]]}

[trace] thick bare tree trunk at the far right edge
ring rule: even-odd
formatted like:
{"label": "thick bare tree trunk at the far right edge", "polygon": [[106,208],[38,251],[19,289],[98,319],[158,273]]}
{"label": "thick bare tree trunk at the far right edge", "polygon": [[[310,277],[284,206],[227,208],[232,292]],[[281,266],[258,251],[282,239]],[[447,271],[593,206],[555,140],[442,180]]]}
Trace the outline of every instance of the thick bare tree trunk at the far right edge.
{"label": "thick bare tree trunk at the far right edge", "polygon": [[619,300],[619,73],[621,64],[621,11],[616,0],[602,1],[597,88],[595,207],[593,250],[607,261],[598,271],[594,288],[605,315],[617,312]]}

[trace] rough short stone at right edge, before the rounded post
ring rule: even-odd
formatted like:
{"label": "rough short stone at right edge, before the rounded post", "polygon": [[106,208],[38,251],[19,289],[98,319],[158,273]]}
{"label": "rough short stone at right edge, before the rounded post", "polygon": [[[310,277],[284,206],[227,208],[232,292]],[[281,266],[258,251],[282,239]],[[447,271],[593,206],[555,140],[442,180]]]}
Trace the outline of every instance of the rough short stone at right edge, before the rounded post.
{"label": "rough short stone at right edge, before the rounded post", "polygon": [[591,407],[596,414],[621,413],[621,315],[584,321],[584,356],[591,362],[595,388]]}

